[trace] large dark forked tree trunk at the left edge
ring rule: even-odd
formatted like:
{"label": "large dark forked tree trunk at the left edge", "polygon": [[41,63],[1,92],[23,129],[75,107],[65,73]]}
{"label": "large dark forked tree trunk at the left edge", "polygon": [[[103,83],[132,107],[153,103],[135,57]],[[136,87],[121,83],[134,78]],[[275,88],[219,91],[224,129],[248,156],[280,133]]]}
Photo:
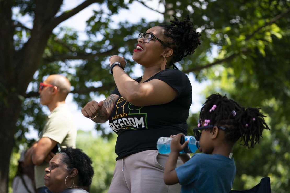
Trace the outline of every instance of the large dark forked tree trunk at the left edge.
{"label": "large dark forked tree trunk at the left edge", "polygon": [[55,18],[62,0],[36,0],[35,18],[31,36],[23,48],[13,48],[14,28],[12,1],[0,0],[0,193],[8,190],[8,172],[16,121],[28,84],[39,68],[49,36],[62,21],[83,10],[96,0],[86,0],[76,8]]}

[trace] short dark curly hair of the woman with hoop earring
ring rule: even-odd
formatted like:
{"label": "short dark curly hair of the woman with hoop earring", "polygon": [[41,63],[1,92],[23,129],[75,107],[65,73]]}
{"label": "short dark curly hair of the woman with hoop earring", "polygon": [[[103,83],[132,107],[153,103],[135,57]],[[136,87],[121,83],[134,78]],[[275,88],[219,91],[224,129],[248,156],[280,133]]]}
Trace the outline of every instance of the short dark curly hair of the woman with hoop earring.
{"label": "short dark curly hair of the woman with hoop earring", "polygon": [[92,159],[88,157],[81,149],[78,148],[62,148],[58,153],[60,159],[66,164],[67,169],[71,170],[76,168],[78,171],[78,181],[81,186],[89,186],[92,183],[94,170],[92,167]]}

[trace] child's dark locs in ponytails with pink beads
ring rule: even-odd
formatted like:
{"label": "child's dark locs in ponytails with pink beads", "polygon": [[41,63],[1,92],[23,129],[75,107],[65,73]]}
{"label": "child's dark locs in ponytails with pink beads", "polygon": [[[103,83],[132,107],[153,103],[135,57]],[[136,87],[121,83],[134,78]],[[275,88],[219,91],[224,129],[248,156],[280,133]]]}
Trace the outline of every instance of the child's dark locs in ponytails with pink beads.
{"label": "child's dark locs in ponytails with pink beads", "polygon": [[[212,107],[216,105],[214,110]],[[260,141],[262,131],[269,129],[264,120],[265,115],[260,109],[247,108],[244,109],[237,102],[228,99],[226,95],[220,94],[210,95],[200,111],[199,123],[204,120],[210,120],[210,125],[223,126],[226,128],[225,136],[227,141],[235,143],[244,141],[244,146],[253,148]]]}

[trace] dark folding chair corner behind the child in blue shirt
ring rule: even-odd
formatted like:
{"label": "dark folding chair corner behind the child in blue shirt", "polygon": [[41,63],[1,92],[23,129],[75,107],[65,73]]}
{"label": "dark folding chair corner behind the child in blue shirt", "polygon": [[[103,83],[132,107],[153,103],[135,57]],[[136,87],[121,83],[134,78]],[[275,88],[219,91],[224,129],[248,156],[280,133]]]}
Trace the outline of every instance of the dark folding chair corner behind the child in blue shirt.
{"label": "dark folding chair corner behind the child in blue shirt", "polygon": [[271,193],[270,178],[262,178],[260,183],[249,190],[231,190],[230,193]]}

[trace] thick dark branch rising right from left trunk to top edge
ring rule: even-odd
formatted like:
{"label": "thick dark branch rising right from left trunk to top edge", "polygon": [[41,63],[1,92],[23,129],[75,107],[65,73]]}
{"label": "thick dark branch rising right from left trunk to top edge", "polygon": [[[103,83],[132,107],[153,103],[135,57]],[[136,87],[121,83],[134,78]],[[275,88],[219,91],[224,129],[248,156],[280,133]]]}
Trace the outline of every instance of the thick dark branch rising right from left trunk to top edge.
{"label": "thick dark branch rising right from left trunk to top edge", "polygon": [[86,0],[83,3],[79,4],[77,7],[73,8],[70,11],[66,11],[63,14],[61,14],[60,16],[58,16],[57,18],[55,18],[51,25],[54,28],[55,26],[57,26],[59,23],[65,21],[66,19],[72,17],[73,15],[77,14],[78,12],[80,12],[81,10],[83,10],[84,8],[88,7],[89,5],[98,2],[99,0]]}

